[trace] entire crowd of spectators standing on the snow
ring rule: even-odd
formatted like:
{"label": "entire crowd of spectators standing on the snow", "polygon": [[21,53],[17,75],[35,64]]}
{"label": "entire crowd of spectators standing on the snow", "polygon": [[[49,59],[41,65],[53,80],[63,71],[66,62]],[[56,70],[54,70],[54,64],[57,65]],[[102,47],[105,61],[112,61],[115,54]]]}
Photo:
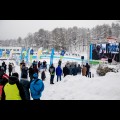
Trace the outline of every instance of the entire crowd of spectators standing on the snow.
{"label": "entire crowd of spectators standing on the snow", "polygon": [[[54,84],[55,75],[57,82],[62,80],[62,75],[82,75],[91,78],[90,65],[80,65],[75,62],[67,62],[61,67],[62,60],[58,61],[58,66],[54,64],[49,66],[50,84]],[[40,100],[44,90],[44,80],[46,79],[47,62],[33,61],[28,68],[24,60],[20,63],[21,75],[15,71],[13,63],[9,63],[8,72],[6,74],[7,65],[3,61],[0,66],[0,99],[1,100]],[[39,79],[41,73],[41,79]],[[29,78],[28,78],[29,77]]]}

